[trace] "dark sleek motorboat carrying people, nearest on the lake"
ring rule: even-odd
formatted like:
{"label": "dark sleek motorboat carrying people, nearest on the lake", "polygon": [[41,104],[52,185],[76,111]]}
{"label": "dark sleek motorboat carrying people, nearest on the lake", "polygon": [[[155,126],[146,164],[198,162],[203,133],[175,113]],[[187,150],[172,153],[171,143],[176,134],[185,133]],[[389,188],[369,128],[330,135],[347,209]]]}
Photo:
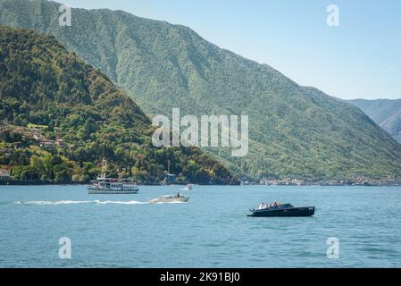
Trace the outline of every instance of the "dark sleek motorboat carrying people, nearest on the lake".
{"label": "dark sleek motorboat carrying people, nearest on the lake", "polygon": [[250,210],[247,216],[312,216],[314,214],[314,206],[296,207],[291,204],[278,204],[264,206]]}

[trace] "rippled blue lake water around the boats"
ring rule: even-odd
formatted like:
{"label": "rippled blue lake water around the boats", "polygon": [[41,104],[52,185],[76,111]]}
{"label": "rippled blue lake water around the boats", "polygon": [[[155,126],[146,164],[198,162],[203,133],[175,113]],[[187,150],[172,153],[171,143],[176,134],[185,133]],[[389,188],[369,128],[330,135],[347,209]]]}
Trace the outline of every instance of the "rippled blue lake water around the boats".
{"label": "rippled blue lake water around the boats", "polygon": [[[0,267],[401,267],[401,188],[195,186],[181,191],[186,204],[145,203],[180,188],[0,186]],[[317,211],[246,217],[274,200]],[[58,255],[61,237],[71,259]]]}

